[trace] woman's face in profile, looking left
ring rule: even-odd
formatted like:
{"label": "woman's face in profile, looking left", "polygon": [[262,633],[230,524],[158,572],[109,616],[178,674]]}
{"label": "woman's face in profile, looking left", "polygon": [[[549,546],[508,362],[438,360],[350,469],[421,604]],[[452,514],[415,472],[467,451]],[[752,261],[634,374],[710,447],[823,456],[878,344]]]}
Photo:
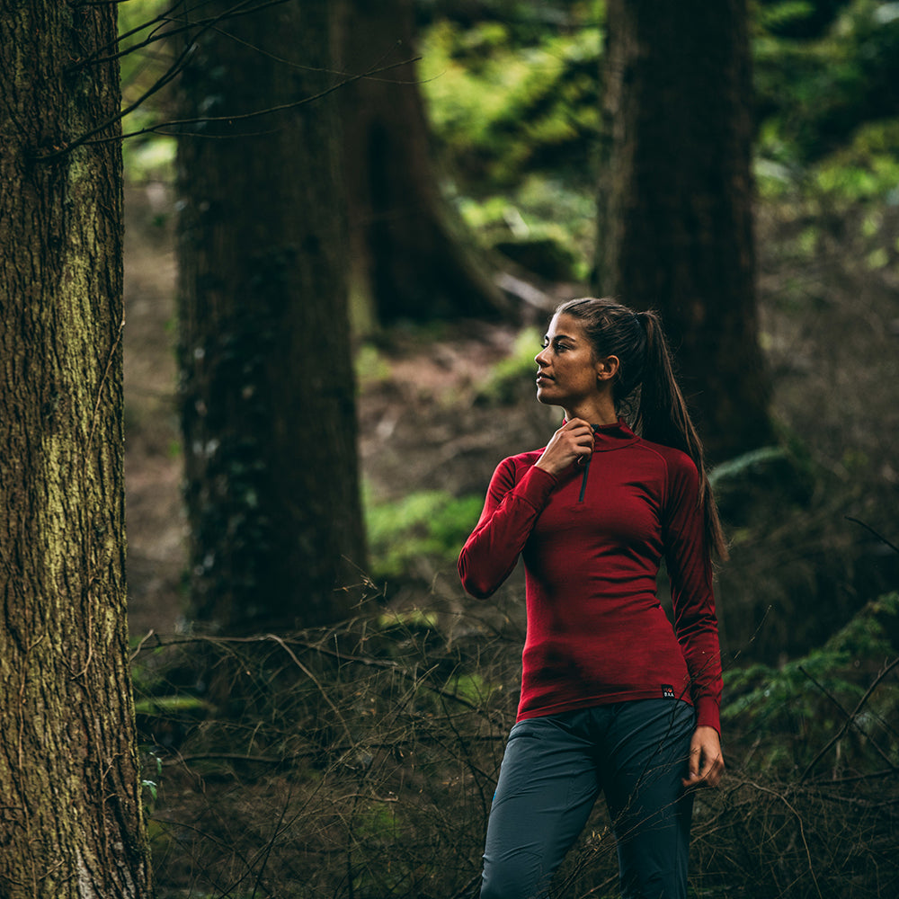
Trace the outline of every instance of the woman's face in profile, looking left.
{"label": "woman's face in profile, looking left", "polygon": [[543,349],[534,357],[537,398],[547,405],[572,409],[589,403],[601,392],[601,366],[593,354],[581,323],[572,316],[553,316],[543,338]]}

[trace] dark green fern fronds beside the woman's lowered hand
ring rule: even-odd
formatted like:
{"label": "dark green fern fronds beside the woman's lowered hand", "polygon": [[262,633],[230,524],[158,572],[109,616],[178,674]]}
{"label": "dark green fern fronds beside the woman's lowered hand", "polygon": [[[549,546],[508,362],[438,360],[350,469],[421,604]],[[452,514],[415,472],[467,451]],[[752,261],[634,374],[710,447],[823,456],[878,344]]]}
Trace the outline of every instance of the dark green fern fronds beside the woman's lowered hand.
{"label": "dark green fern fronds beside the woman's lowered hand", "polygon": [[[899,653],[899,592],[868,605],[823,646],[779,668],[753,664],[725,673],[722,719],[743,729],[764,764],[788,773],[805,769],[856,708],[877,672]],[[895,678],[868,699],[841,741],[834,776],[856,770],[872,754],[899,766]],[[872,749],[872,746],[879,749]]]}

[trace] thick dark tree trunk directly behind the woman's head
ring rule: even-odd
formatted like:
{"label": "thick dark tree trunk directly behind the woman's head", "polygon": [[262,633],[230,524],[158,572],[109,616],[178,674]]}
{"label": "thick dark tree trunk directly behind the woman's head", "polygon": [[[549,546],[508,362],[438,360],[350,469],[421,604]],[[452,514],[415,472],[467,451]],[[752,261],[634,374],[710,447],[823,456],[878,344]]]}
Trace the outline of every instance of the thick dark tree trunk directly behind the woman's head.
{"label": "thick dark tree trunk directly behind the woman's head", "polygon": [[597,289],[663,316],[713,460],[773,441],[744,0],[610,0]]}

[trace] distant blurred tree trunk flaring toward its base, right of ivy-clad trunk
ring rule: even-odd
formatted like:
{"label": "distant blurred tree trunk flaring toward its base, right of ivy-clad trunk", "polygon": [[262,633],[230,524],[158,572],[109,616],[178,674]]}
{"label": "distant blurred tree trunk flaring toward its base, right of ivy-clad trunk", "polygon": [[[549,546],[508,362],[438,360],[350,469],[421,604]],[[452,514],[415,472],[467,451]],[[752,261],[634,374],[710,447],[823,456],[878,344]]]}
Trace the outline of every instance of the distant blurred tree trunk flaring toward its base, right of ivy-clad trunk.
{"label": "distant blurred tree trunk flaring toward its base, right of ivy-clad trunk", "polygon": [[[418,87],[411,0],[337,4],[338,60],[355,316],[381,323],[509,315],[443,199]],[[387,71],[378,69],[405,63]],[[362,308],[360,314],[358,308]]]}

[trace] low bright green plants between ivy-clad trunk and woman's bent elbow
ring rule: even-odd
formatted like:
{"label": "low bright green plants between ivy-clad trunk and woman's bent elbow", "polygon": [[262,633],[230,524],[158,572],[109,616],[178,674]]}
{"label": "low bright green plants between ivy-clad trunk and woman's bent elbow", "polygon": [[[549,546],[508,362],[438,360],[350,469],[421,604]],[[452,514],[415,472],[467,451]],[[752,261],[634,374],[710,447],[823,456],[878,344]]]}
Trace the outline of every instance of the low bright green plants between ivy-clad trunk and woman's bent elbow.
{"label": "low bright green plants between ivy-clad trunk and woman's bent elbow", "polygon": [[399,578],[421,570],[423,561],[453,565],[458,548],[481,512],[480,496],[441,491],[409,494],[393,503],[365,503],[373,574]]}

